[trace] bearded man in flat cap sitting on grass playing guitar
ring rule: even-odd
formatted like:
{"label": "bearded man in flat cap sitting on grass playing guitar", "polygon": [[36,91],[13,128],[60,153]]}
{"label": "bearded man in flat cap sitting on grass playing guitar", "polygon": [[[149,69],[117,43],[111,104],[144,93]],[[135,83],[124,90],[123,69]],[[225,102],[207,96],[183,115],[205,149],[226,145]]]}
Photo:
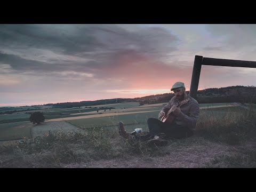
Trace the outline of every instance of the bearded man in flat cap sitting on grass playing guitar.
{"label": "bearded man in flat cap sitting on grass playing guitar", "polygon": [[[132,141],[147,141],[150,145],[155,144],[163,146],[167,143],[165,139],[181,139],[192,136],[195,132],[196,122],[199,116],[198,102],[186,93],[185,85],[182,82],[174,83],[171,91],[173,91],[175,95],[169,103],[162,108],[158,119],[148,119],[148,134],[137,137],[136,135],[127,133],[124,129],[123,122],[119,122],[118,128],[121,137]],[[185,100],[185,104],[178,106],[179,103]],[[165,117],[167,113],[170,112],[169,110],[174,115],[174,121],[162,122],[160,119]]]}

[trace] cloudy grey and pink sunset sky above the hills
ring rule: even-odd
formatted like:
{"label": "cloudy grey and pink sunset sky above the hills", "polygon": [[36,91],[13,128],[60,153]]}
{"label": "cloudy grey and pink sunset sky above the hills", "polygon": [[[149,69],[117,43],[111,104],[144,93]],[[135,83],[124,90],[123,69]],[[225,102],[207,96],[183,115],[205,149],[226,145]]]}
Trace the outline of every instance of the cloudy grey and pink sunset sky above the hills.
{"label": "cloudy grey and pink sunset sky above the hills", "polygon": [[[170,93],[195,55],[256,61],[256,25],[3,25],[0,106]],[[202,66],[198,89],[256,85],[256,68]]]}

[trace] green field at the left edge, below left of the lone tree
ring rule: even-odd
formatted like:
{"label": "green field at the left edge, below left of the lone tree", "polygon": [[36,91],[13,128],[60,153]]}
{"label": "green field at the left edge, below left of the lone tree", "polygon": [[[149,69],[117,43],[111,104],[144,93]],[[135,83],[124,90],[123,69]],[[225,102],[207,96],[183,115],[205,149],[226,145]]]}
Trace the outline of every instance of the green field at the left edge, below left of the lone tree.
{"label": "green field at the left edge, below left of the lone tree", "polygon": [[23,137],[30,138],[30,128],[15,128],[28,123],[30,122],[0,124],[0,141],[22,139]]}

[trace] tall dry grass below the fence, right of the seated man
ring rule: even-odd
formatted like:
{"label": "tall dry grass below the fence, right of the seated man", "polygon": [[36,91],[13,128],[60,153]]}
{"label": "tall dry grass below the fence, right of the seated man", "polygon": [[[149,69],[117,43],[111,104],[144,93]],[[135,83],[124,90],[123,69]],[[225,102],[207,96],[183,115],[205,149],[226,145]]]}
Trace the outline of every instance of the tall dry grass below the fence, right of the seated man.
{"label": "tall dry grass below the fence, right of the seated man", "polygon": [[253,108],[237,112],[227,111],[218,116],[202,110],[197,122],[197,135],[238,145],[256,136],[255,125],[256,111]]}

